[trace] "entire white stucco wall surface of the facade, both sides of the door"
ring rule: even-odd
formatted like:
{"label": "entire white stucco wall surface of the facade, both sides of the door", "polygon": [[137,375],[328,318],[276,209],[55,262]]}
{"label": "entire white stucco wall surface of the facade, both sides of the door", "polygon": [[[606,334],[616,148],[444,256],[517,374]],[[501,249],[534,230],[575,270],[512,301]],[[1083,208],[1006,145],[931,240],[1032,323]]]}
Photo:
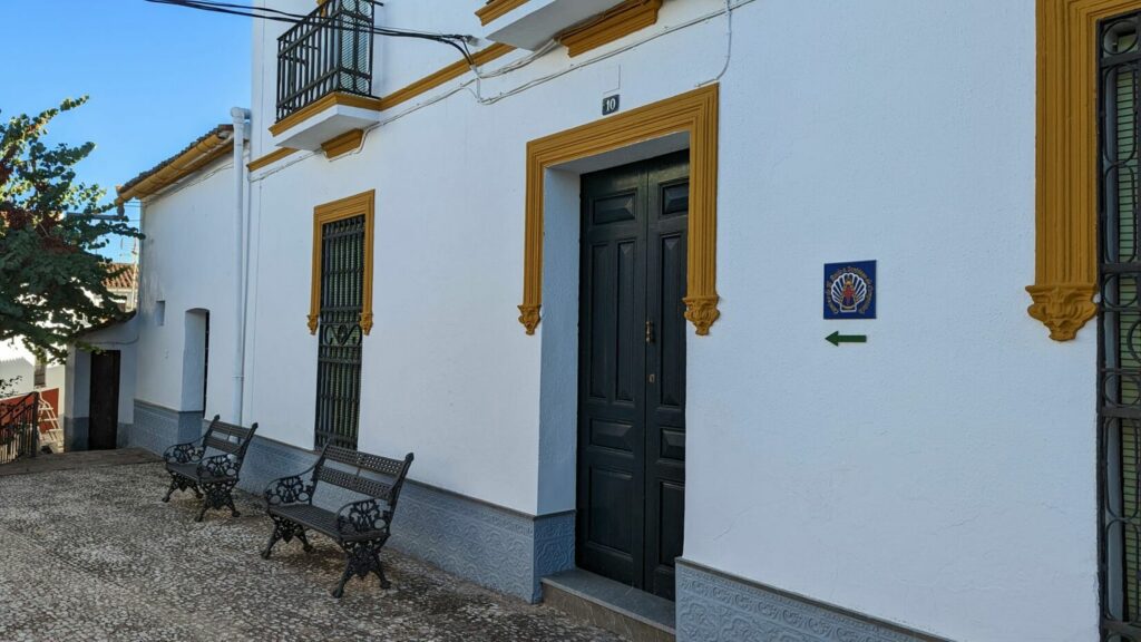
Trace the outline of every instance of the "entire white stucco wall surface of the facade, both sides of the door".
{"label": "entire white stucco wall surface of the facade, both sides of the door", "polygon": [[[472,5],[389,0],[382,22],[476,31]],[[565,263],[577,224],[573,207],[548,212],[547,260],[559,263],[528,337],[516,321],[525,146],[598,119],[615,85],[629,110],[713,79],[723,18],[588,63],[721,6],[667,1],[657,25],[621,43],[574,59],[557,50],[484,82],[491,96],[577,67],[494,106],[459,93],[369,133],[359,153],[294,154],[254,172],[245,417],[259,434],[313,444],[313,208],[375,190],[361,449],[414,450],[415,479],[484,501],[574,508],[561,382],[573,382],[575,305],[558,295],[577,287]],[[257,158],[273,150],[262,58],[278,27],[253,29]],[[1094,331],[1058,344],[1025,312],[1034,2],[756,0],[734,30],[721,79],[722,316],[688,343],[686,557],[956,640],[1094,639]],[[455,59],[438,45],[378,42],[378,94]],[[549,187],[573,201],[574,171]],[[185,404],[181,323],[202,307],[207,414],[229,408],[232,199],[224,171],[146,206],[139,399]],[[825,322],[822,265],[855,259],[879,262],[880,319]],[[833,330],[869,343],[833,347]]]}

